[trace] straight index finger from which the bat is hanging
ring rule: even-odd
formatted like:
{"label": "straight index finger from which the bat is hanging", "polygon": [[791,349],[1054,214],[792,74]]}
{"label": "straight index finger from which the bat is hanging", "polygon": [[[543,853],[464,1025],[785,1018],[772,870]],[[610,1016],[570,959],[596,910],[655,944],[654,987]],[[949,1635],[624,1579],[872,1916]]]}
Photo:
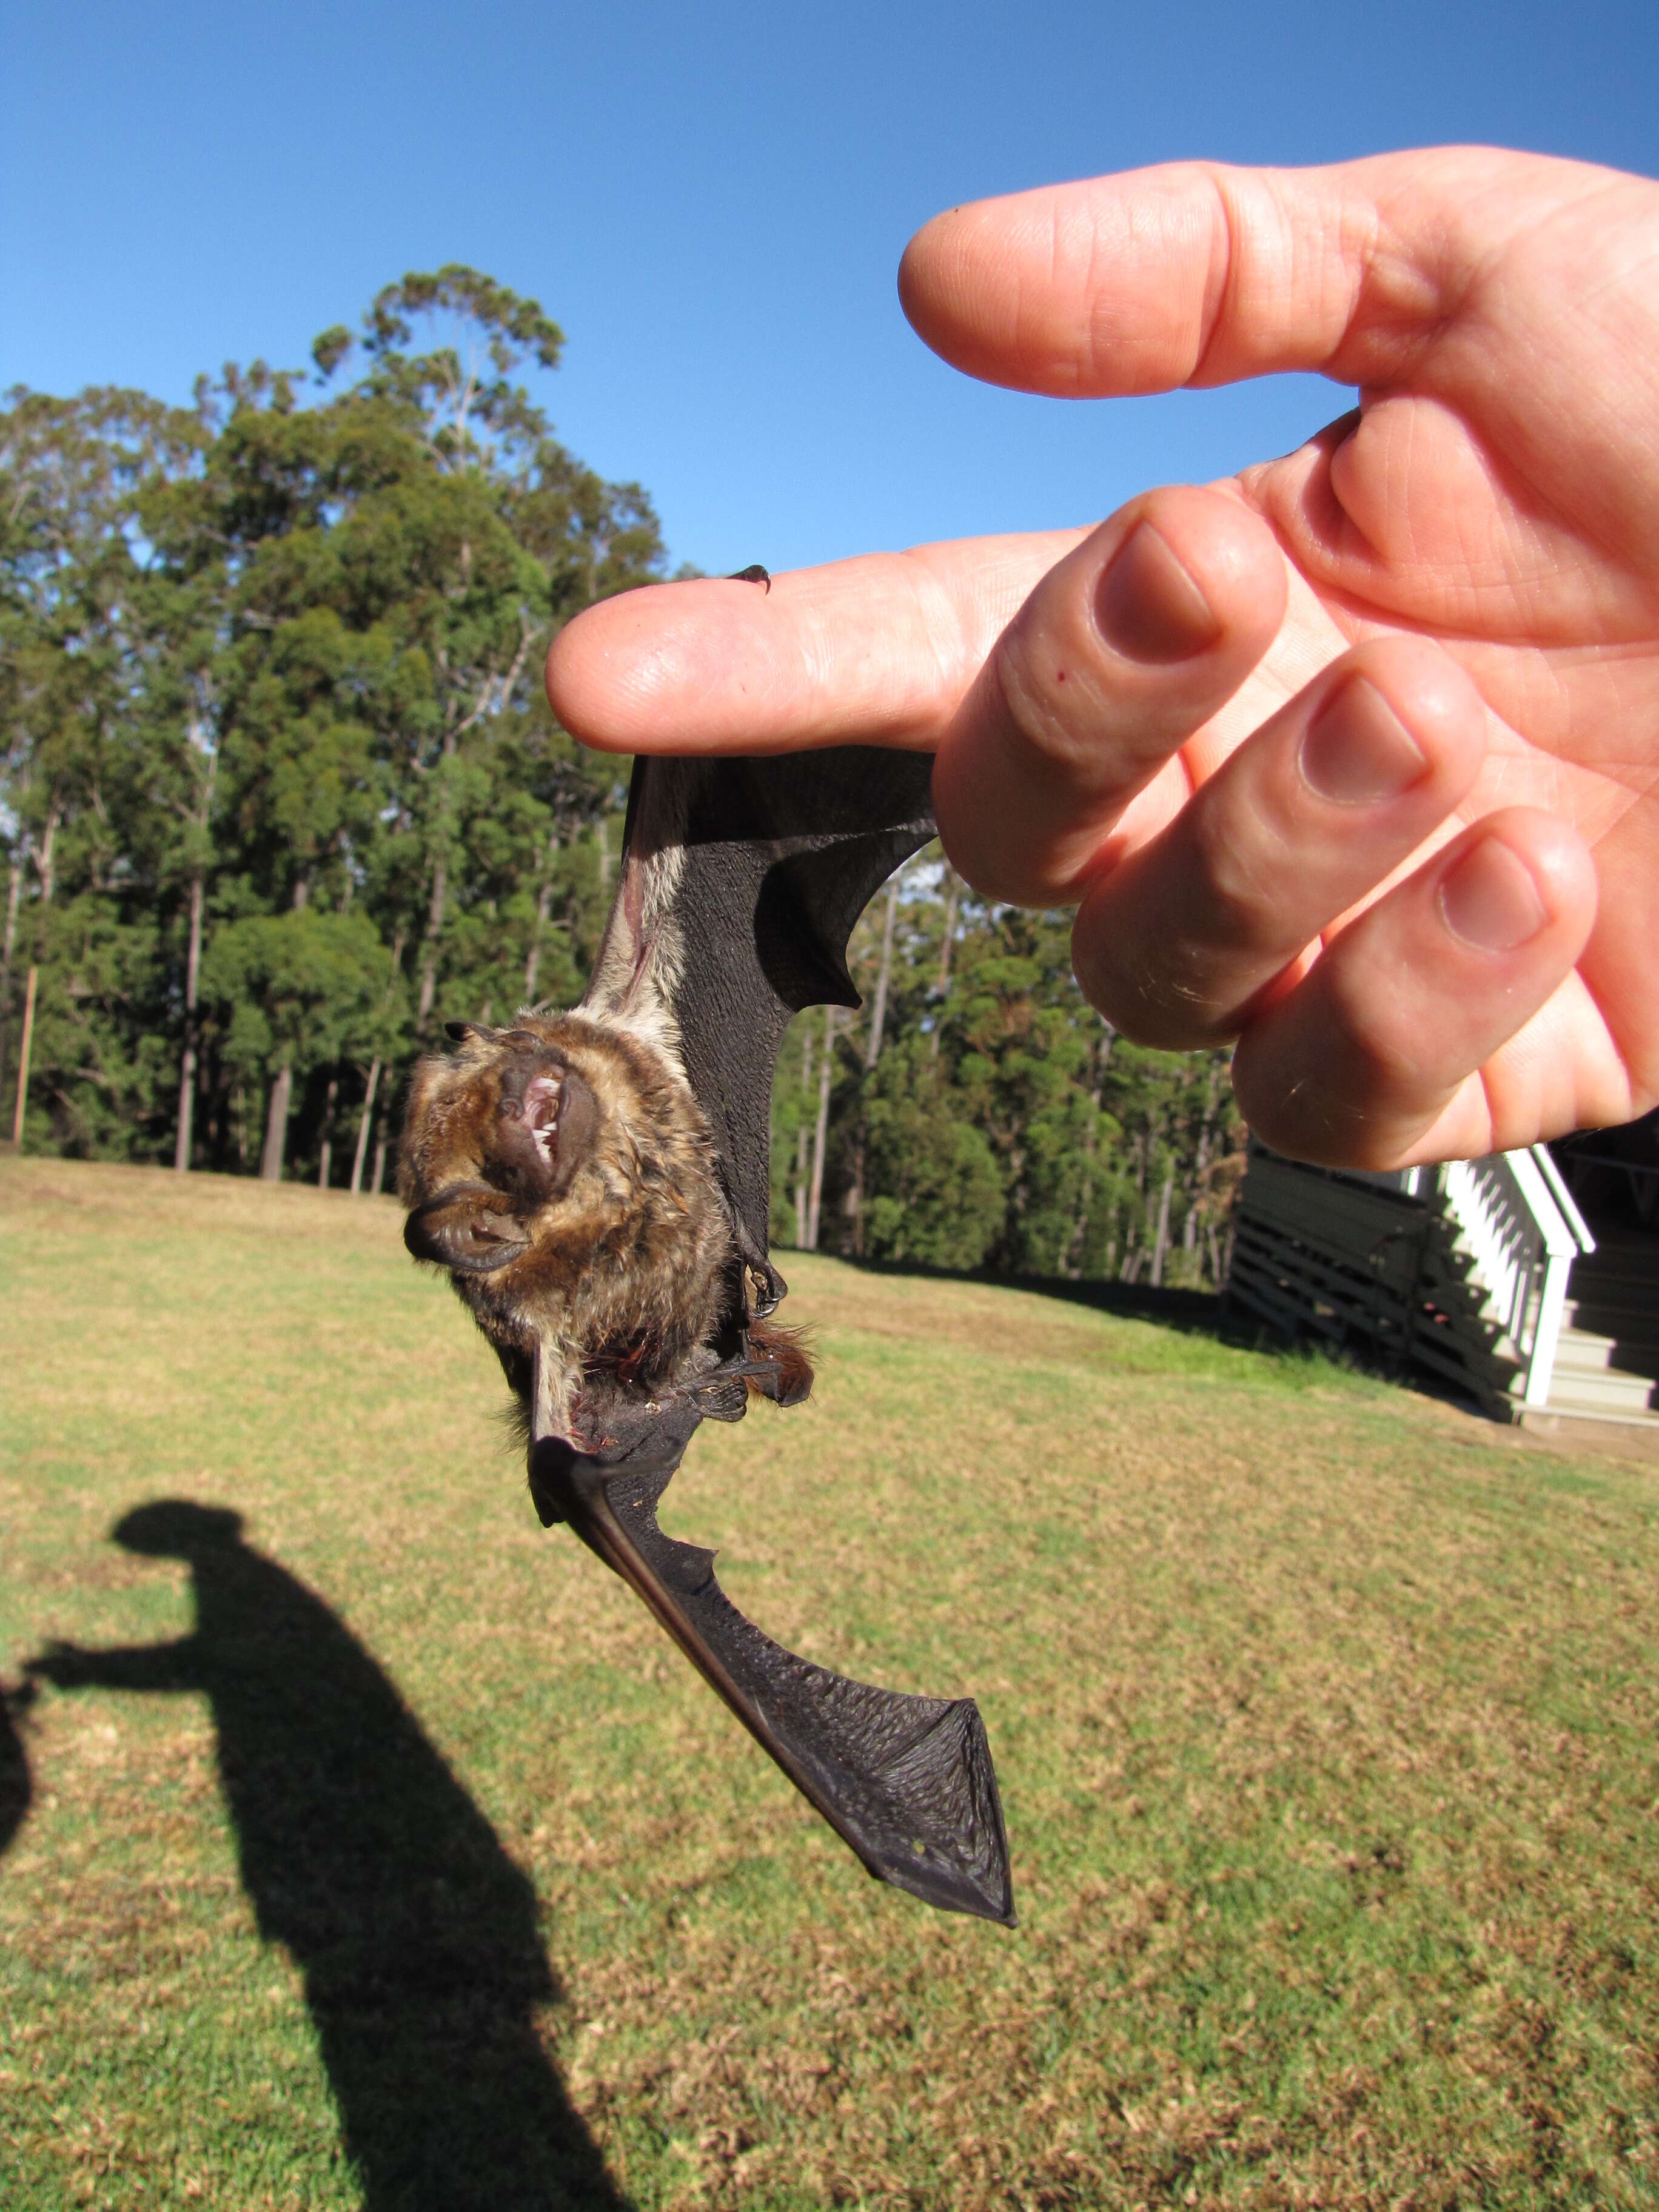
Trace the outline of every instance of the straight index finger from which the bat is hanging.
{"label": "straight index finger from which the bat is hanging", "polygon": [[608,752],[929,750],[1082,531],[964,538],[772,577],[626,591],[553,639],[560,723]]}

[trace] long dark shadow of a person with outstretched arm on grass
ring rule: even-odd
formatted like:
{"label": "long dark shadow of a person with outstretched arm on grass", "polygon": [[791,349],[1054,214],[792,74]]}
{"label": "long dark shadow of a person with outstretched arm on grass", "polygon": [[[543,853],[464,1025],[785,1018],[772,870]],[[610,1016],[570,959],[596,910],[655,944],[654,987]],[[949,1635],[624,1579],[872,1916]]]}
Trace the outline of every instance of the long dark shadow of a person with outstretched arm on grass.
{"label": "long dark shadow of a person with outstretched arm on grass", "polygon": [[535,1891],[392,1681],[239,1513],[161,1500],[113,1537],[188,1562],[195,1635],[29,1670],[210,1699],[241,1878],[305,1975],[365,2212],[622,2212],[535,2035]]}

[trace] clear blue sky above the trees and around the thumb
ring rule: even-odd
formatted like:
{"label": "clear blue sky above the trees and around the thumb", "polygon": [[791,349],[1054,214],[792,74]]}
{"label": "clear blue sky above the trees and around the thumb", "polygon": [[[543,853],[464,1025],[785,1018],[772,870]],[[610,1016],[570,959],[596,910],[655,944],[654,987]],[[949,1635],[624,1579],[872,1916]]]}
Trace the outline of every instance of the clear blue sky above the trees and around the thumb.
{"label": "clear blue sky above the trees and around the thumb", "polygon": [[564,325],[540,396],[675,560],[1086,522],[1343,396],[969,385],[894,294],[931,212],[1444,139],[1655,173],[1657,95],[1655,0],[0,0],[0,385],[184,398],[471,261]]}

